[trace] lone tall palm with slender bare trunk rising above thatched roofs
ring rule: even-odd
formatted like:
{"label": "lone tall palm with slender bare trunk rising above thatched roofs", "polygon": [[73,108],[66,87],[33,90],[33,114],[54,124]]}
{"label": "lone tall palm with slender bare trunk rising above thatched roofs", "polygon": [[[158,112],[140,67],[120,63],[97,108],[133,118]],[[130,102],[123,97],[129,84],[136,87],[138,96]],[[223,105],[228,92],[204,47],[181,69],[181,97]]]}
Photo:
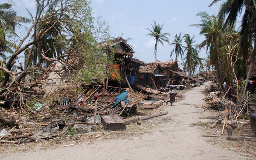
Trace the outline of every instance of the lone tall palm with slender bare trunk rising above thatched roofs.
{"label": "lone tall palm with slender bare trunk rising above thatched roofs", "polygon": [[[163,46],[163,42],[167,42],[169,44],[169,39],[167,36],[170,36],[169,33],[162,33],[162,29],[163,29],[163,24],[162,26],[158,24],[156,24],[156,22],[154,21],[154,25],[152,25],[152,30],[146,28],[148,31],[150,31],[150,33],[148,33],[146,36],[152,36],[152,37],[155,37],[155,40],[156,40],[156,44],[155,44],[155,51],[154,51],[154,54],[155,54],[155,57],[156,57],[156,51],[157,51],[157,44],[158,42],[160,42]],[[156,62],[157,62],[157,58],[156,58]]]}

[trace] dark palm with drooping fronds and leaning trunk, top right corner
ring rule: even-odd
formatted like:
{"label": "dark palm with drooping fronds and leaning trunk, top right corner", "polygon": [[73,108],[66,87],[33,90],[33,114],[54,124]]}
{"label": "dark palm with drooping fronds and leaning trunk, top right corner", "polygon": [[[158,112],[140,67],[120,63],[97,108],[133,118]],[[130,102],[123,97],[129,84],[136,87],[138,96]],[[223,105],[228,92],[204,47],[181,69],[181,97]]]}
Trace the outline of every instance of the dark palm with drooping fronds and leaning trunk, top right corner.
{"label": "dark palm with drooping fronds and leaning trunk, top right corner", "polygon": [[[221,0],[214,0],[209,6],[212,6],[216,2]],[[245,7],[245,10],[244,10]],[[223,4],[220,6],[219,10],[219,19],[224,19],[226,21],[224,27],[234,26],[237,17],[243,14],[242,23],[241,23],[241,41],[240,45],[242,48],[244,66],[248,57],[249,46],[251,41],[254,41],[254,50],[251,54],[251,63],[248,69],[245,87],[242,92],[242,97],[245,95],[247,83],[250,77],[252,66],[256,61],[256,1],[255,0],[223,0]],[[242,98],[241,98],[242,99]]]}

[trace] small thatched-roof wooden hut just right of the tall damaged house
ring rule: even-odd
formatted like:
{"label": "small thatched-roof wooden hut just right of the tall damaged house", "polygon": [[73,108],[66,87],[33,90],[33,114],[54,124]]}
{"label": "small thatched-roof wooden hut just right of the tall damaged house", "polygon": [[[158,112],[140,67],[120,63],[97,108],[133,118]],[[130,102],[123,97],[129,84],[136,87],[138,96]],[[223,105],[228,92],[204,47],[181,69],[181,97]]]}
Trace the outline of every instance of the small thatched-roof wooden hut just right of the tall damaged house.
{"label": "small thatched-roof wooden hut just right of the tall damaged house", "polygon": [[153,89],[158,89],[164,86],[163,77],[163,69],[157,62],[141,66],[138,74],[139,84]]}

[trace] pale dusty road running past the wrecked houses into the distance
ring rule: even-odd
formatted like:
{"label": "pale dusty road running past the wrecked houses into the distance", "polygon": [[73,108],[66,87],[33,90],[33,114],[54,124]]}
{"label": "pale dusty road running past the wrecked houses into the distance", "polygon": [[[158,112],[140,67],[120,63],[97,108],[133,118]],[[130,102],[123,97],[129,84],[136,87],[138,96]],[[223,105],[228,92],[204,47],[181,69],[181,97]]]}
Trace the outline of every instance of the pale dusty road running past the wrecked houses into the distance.
{"label": "pale dusty road running past the wrecked houses into the distance", "polygon": [[[209,85],[209,83],[206,83]],[[184,100],[174,103],[165,110],[165,116],[150,120],[162,121],[163,117],[176,113],[200,112],[202,108],[184,105],[190,103],[203,105],[205,85],[195,87],[186,92]],[[2,159],[114,159],[114,160],[157,160],[157,159],[248,159],[232,153],[216,145],[212,145],[202,137],[203,130],[193,123],[199,121],[202,113],[179,114],[168,122],[158,124],[148,133],[126,137],[126,139],[97,140],[94,144],[83,143],[64,148],[25,153],[2,153]]]}

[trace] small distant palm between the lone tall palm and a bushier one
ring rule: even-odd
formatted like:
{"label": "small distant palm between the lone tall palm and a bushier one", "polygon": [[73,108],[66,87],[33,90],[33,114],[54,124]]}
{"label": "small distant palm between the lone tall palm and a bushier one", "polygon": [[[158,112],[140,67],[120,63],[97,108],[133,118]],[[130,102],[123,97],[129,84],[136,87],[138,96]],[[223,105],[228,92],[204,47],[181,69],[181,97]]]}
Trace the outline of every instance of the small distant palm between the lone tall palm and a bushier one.
{"label": "small distant palm between the lone tall palm and a bushier one", "polygon": [[181,37],[181,33],[179,33],[179,36],[176,34],[174,37],[173,43],[170,44],[170,45],[175,46],[170,55],[170,57],[172,57],[172,54],[175,52],[175,54],[176,54],[175,60],[178,60],[179,55],[181,55],[181,58],[182,58],[182,55],[184,54],[184,51],[182,49],[184,47],[182,45],[182,39],[183,39],[183,37]]}

